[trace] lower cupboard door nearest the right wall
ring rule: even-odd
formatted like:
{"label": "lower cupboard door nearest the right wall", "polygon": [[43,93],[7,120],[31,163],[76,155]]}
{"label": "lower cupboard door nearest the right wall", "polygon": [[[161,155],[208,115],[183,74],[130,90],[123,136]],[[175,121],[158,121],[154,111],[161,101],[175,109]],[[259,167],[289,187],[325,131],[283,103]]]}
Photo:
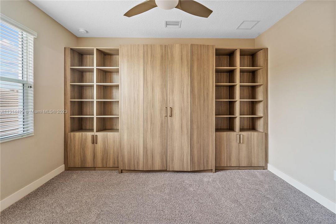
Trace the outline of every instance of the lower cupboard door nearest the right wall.
{"label": "lower cupboard door nearest the right wall", "polygon": [[265,165],[265,133],[241,133],[239,144],[240,166]]}

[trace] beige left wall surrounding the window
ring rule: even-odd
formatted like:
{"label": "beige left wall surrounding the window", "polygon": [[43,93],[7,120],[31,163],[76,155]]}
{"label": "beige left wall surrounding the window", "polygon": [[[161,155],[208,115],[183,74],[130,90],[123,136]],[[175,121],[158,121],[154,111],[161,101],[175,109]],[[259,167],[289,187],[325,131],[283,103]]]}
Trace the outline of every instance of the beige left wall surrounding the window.
{"label": "beige left wall surrounding the window", "polygon": [[[64,47],[77,37],[29,1],[0,2],[1,13],[37,32],[34,109],[64,108]],[[35,114],[34,136],[1,143],[1,199],[64,164],[64,115]]]}

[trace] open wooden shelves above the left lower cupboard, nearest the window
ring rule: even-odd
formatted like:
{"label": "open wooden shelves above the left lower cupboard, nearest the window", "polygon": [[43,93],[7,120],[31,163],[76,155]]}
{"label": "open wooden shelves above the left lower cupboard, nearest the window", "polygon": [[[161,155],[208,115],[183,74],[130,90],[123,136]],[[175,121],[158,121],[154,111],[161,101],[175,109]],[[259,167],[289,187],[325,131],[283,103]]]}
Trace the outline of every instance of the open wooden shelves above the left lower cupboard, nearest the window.
{"label": "open wooden shelves above the left lower cupboard, nearest the window", "polygon": [[119,49],[70,48],[69,132],[119,132]]}

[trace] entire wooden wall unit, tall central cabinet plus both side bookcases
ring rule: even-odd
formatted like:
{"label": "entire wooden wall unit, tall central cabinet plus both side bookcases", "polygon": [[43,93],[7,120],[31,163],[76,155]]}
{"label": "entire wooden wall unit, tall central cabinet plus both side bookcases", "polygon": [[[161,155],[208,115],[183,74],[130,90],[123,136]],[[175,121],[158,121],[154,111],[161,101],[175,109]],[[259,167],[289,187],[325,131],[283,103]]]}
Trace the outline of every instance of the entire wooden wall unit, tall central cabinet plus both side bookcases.
{"label": "entire wooden wall unit, tall central cabinet plus both side bookcases", "polygon": [[65,48],[66,170],[267,169],[267,48]]}

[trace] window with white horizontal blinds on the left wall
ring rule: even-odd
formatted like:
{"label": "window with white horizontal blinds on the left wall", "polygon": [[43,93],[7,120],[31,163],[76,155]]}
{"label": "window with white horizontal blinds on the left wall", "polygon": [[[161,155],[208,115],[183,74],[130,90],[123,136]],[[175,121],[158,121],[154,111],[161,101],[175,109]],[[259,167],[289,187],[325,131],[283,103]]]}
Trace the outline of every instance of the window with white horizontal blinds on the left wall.
{"label": "window with white horizontal blinds on the left wall", "polygon": [[34,37],[34,31],[1,14],[1,142],[34,134]]}

